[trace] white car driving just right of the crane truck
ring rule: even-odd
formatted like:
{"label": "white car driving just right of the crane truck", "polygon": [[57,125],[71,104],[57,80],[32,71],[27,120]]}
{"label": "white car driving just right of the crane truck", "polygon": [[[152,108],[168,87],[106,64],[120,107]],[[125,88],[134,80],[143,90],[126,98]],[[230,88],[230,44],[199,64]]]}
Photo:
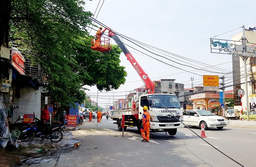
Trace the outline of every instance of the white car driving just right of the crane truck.
{"label": "white car driving just right of the crane truck", "polygon": [[188,126],[199,126],[204,125],[204,129],[208,127],[217,127],[222,129],[227,126],[227,120],[222,116],[217,116],[204,109],[188,109],[183,111],[184,123]]}

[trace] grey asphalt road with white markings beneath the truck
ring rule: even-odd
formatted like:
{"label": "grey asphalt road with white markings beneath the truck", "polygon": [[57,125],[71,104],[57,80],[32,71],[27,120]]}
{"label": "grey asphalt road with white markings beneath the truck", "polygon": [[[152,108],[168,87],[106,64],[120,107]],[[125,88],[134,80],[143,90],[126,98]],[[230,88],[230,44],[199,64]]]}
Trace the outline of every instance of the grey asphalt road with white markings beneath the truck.
{"label": "grey asphalt road with white markings beneath the truck", "polygon": [[[232,126],[249,124],[252,129],[224,127],[206,130],[207,142],[245,166],[254,166],[246,160],[246,153],[256,154],[254,147],[247,148],[255,138],[256,121],[228,120]],[[256,126],[255,126],[256,127]],[[200,135],[200,128],[191,128]],[[190,128],[179,129],[175,136],[165,132],[151,133],[149,143],[141,142],[137,128],[122,133],[112,120],[103,117],[101,123],[87,122],[66,136],[69,143],[55,157],[36,159],[40,164],[30,166],[240,166],[200,139]],[[72,139],[72,137],[74,137]],[[241,142],[248,140],[248,142]],[[73,147],[74,142],[80,147]],[[35,162],[32,159],[31,162]],[[27,166],[23,165],[23,166]]]}

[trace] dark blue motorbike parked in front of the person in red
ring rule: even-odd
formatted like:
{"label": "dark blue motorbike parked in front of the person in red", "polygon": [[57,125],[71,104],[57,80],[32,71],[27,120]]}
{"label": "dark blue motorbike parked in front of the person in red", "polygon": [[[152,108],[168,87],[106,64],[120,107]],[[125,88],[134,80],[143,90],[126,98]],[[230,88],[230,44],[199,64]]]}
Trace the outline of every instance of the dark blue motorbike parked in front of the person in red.
{"label": "dark blue motorbike parked in front of the person in red", "polygon": [[49,132],[48,134],[43,134],[39,129],[40,126],[42,126],[42,122],[40,121],[40,119],[34,117],[34,122],[29,123],[27,125],[27,128],[25,128],[21,135],[20,135],[20,139],[22,141],[27,141],[31,136],[34,137],[41,137],[41,138],[49,138],[52,142],[59,142],[62,140],[63,138],[63,133],[64,130],[64,123],[61,124],[47,124],[48,128],[49,128]]}

